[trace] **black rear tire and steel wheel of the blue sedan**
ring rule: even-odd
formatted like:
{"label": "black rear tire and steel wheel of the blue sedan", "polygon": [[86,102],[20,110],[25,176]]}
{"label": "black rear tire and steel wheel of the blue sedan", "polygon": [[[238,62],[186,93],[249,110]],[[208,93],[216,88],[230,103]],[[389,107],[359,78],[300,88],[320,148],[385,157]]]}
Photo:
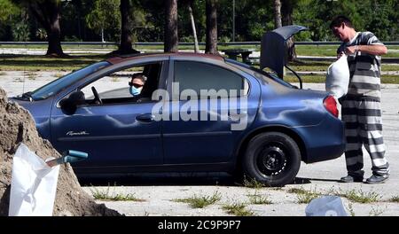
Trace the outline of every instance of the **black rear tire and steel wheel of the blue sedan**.
{"label": "black rear tire and steel wheel of the blue sedan", "polygon": [[298,174],[301,151],[284,133],[262,133],[249,141],[242,163],[250,178],[270,186],[284,186]]}

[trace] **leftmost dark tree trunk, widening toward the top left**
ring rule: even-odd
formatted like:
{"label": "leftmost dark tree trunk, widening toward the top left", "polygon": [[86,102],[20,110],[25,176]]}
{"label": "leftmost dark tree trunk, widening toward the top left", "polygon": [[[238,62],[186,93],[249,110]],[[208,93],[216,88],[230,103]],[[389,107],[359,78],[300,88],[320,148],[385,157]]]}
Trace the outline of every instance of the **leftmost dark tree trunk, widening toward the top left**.
{"label": "leftmost dark tree trunk, widening toward the top left", "polygon": [[47,33],[48,48],[46,55],[65,56],[61,47],[61,28],[59,27],[59,2],[57,1],[29,1],[29,9],[44,27]]}

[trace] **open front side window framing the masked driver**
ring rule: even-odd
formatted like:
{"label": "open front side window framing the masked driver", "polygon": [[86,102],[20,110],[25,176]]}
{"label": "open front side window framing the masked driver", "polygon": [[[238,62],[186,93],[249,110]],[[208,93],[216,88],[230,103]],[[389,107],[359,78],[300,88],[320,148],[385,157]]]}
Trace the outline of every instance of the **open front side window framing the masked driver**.
{"label": "open front side window framing the masked driver", "polygon": [[[158,89],[161,63],[131,66],[81,88],[87,105],[150,102]],[[94,90],[98,93],[98,98]]]}

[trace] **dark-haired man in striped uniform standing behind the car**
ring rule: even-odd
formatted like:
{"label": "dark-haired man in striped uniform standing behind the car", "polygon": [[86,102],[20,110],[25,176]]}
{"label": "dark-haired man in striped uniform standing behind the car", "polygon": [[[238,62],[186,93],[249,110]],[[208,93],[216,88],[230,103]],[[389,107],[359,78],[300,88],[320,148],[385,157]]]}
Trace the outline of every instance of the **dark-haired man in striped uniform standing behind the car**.
{"label": "dark-haired man in striped uniform standing behind the car", "polygon": [[372,158],[372,176],[365,183],[384,183],[389,177],[389,164],[382,137],[380,56],[387,53],[387,47],[371,32],[356,32],[347,17],[336,17],[330,28],[342,42],[338,58],[343,53],[348,55],[350,71],[348,94],[340,99],[348,169],[348,175],[340,182],[363,182],[364,145]]}

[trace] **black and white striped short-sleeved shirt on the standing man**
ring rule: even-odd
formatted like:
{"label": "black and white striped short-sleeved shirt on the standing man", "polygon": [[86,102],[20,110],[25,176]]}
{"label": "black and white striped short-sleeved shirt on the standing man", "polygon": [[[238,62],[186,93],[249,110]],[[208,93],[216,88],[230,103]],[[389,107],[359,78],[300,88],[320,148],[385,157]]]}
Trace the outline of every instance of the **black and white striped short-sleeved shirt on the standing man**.
{"label": "black and white striped short-sleeved shirt on the standing man", "polygon": [[[383,44],[371,32],[360,32],[349,43],[341,43],[338,53],[345,51],[347,46]],[[372,98],[379,100],[380,93],[380,64],[381,57],[377,55],[357,52],[348,55],[350,80],[348,97]]]}

